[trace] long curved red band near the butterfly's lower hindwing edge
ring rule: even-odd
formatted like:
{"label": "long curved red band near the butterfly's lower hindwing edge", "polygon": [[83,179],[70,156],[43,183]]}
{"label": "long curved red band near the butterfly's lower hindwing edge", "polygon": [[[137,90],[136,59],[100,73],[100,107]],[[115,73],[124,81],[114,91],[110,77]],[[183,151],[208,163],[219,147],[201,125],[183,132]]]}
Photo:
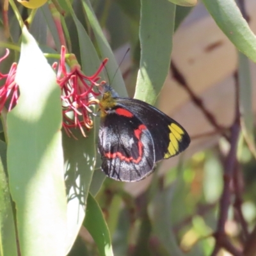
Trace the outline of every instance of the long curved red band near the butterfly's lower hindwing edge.
{"label": "long curved red band near the butterfly's lower hindwing edge", "polygon": [[138,141],[138,149],[139,149],[139,156],[137,159],[134,159],[133,157],[125,157],[121,152],[115,152],[113,154],[111,154],[110,152],[106,153],[105,156],[108,157],[108,158],[111,158],[111,159],[114,159],[116,157],[118,157],[121,161],[125,161],[125,162],[133,162],[135,164],[138,164],[140,163],[141,161],[141,158],[142,158],[142,147],[143,147],[143,144],[141,143],[141,132],[142,130],[145,130],[147,129],[147,127],[143,124],[141,124],[138,129],[134,130],[134,135],[135,137],[139,140]]}

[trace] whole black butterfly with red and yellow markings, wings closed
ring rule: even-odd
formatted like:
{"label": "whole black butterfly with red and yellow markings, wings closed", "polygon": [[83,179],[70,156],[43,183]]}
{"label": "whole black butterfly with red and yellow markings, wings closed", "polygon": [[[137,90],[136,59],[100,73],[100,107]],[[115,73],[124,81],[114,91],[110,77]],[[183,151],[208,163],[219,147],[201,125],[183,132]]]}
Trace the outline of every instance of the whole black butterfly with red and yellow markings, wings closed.
{"label": "whole black butterfly with red and yellow markings, wings closed", "polygon": [[157,161],[188,147],[188,133],[159,109],[118,97],[109,85],[103,90],[98,148],[106,175],[126,182],[141,180],[154,171]]}

